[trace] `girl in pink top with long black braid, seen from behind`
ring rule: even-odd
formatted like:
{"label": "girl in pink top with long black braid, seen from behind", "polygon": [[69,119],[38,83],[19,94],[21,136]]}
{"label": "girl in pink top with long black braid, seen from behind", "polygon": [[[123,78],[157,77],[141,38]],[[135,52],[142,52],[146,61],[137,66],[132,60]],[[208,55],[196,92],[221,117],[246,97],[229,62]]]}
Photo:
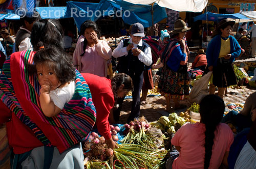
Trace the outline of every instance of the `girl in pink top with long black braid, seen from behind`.
{"label": "girl in pink top with long black braid, seen from behind", "polygon": [[171,142],[176,149],[167,160],[168,168],[228,167],[227,157],[233,133],[221,123],[225,103],[217,95],[207,95],[200,102],[200,123],[184,124]]}

